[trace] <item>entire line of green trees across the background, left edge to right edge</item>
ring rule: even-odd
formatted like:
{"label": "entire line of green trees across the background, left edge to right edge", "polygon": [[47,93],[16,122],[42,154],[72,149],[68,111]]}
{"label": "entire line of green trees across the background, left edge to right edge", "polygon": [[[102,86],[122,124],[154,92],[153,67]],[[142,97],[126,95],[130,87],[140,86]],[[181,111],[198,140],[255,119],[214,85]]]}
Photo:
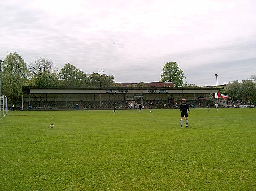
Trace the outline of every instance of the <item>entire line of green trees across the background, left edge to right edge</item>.
{"label": "entire line of green trees across the background, left edge to right edge", "polygon": [[[172,82],[174,87],[199,87],[195,84],[184,82],[184,72],[176,62],[169,62],[163,66],[161,82]],[[70,63],[64,65],[60,72],[51,60],[41,57],[27,65],[16,52],[9,53],[2,63],[2,94],[6,95],[11,103],[20,103],[22,86],[68,86],[68,87],[102,87],[122,86],[115,83],[113,75],[102,76],[99,73],[87,74]],[[231,82],[227,85],[226,92],[233,99],[255,99],[256,75],[252,80]],[[139,82],[129,87],[147,87]]]}

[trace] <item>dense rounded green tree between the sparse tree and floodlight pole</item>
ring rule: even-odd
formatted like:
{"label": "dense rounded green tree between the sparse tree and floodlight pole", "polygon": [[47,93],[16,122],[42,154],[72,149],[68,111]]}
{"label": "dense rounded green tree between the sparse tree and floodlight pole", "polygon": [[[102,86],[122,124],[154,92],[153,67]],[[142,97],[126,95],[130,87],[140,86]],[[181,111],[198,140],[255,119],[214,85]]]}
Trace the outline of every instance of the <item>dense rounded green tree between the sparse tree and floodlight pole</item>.
{"label": "dense rounded green tree between the sparse tree and floodlight pole", "polygon": [[65,64],[59,73],[59,77],[64,86],[86,86],[87,76],[83,71],[77,69],[76,66],[68,63]]}

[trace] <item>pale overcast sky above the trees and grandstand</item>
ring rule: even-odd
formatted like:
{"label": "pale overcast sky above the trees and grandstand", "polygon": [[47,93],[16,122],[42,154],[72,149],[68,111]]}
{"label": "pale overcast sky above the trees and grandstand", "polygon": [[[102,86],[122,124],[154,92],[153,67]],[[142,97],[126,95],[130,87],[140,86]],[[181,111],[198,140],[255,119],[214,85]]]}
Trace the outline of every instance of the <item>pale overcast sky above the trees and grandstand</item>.
{"label": "pale overcast sky above the trees and grandstand", "polygon": [[160,80],[176,61],[201,86],[256,74],[256,0],[0,0],[0,60],[52,60],[116,82]]}

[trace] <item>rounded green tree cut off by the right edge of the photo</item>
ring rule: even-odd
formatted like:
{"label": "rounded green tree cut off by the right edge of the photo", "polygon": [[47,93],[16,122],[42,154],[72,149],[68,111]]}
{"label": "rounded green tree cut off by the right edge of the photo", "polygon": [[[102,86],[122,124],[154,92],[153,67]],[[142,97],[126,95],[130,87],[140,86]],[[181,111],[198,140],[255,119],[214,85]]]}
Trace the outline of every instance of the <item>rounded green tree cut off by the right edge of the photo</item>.
{"label": "rounded green tree cut off by the right edge of the photo", "polygon": [[252,80],[243,80],[241,83],[241,97],[245,102],[256,97],[256,83]]}

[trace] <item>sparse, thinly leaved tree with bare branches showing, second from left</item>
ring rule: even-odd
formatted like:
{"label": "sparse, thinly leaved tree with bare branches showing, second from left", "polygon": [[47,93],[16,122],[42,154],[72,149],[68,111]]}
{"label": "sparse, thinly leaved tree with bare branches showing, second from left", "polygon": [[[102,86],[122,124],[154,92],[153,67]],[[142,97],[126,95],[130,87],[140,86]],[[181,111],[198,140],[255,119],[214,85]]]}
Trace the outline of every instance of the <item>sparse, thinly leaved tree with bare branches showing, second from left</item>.
{"label": "sparse, thinly leaved tree with bare branches showing, second from left", "polygon": [[56,73],[56,66],[51,60],[41,57],[30,63],[32,85],[34,86],[60,86],[61,83]]}

